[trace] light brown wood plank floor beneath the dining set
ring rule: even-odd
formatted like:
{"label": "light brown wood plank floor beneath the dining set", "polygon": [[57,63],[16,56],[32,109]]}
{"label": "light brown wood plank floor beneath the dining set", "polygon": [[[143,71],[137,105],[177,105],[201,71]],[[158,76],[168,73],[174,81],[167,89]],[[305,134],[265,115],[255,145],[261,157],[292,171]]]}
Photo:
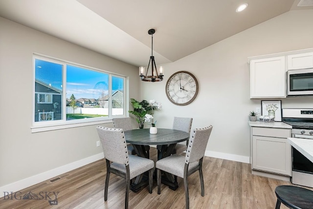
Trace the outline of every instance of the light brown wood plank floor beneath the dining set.
{"label": "light brown wood plank floor beneath the dining set", "polygon": [[[151,158],[156,159],[156,149],[151,148]],[[13,196],[0,199],[0,209],[122,209],[124,208],[125,180],[111,174],[108,201],[104,202],[105,160],[90,163],[81,168],[60,175],[53,183],[45,181],[30,186],[17,193],[19,198],[32,192],[39,199],[16,200]],[[201,197],[199,173],[189,178],[191,209],[274,209],[275,187],[291,185],[290,182],[251,174],[248,163],[204,157],[203,176],[205,195]],[[51,192],[46,198],[45,192]],[[49,197],[57,195],[58,205],[50,206]],[[12,197],[12,198],[11,198]],[[182,179],[176,191],[161,186],[157,194],[154,181],[152,194],[143,188],[139,192],[130,191],[130,209],[184,209],[185,196]],[[287,209],[281,206],[281,209]]]}

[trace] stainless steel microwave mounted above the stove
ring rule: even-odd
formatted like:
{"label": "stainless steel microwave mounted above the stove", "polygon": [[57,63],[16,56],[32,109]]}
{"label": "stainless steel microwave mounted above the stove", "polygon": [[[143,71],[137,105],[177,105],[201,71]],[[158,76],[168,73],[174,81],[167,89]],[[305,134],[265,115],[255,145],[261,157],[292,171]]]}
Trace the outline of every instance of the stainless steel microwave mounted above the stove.
{"label": "stainless steel microwave mounted above the stove", "polygon": [[313,68],[288,70],[287,96],[313,96]]}

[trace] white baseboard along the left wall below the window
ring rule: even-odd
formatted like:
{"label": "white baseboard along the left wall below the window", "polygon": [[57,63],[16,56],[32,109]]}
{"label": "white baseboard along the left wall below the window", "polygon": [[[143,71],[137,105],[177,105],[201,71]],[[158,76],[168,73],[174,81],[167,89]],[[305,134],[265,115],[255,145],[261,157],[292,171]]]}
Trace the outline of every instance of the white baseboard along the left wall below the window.
{"label": "white baseboard along the left wall below the window", "polygon": [[4,196],[4,192],[16,192],[23,188],[27,188],[28,186],[33,186],[35,184],[38,184],[40,182],[44,182],[48,179],[51,179],[53,177],[59,176],[63,173],[66,173],[68,171],[74,170],[76,168],[79,168],[81,166],[87,165],[89,163],[98,161],[100,159],[103,159],[104,155],[103,153],[99,153],[93,156],[90,156],[88,158],[69,163],[66,165],[62,165],[60,167],[54,168],[52,170],[45,171],[43,173],[37,174],[35,176],[31,176],[26,179],[22,179],[18,182],[14,182],[9,185],[1,186],[0,187],[0,197]]}

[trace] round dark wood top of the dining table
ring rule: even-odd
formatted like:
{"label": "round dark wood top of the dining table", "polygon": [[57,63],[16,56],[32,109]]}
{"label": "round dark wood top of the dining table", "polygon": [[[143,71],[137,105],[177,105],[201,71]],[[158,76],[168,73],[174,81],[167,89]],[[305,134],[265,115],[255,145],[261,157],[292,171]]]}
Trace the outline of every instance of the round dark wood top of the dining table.
{"label": "round dark wood top of the dining table", "polygon": [[134,129],[125,131],[127,143],[138,145],[164,145],[175,144],[189,138],[188,132],[158,128],[157,134],[150,134],[149,129]]}

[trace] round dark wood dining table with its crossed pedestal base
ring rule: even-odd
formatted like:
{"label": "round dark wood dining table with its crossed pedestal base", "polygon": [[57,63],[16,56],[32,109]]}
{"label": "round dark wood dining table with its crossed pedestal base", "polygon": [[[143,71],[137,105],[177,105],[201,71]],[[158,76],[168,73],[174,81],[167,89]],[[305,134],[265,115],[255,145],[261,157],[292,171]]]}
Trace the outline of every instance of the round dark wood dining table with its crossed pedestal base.
{"label": "round dark wood dining table with its crossed pedestal base", "polygon": [[[161,145],[161,148],[157,150],[157,160],[170,156],[176,144],[189,139],[190,136],[188,132],[165,128],[158,128],[156,134],[150,134],[149,129],[133,129],[124,131],[124,134],[126,142],[134,146],[135,152],[140,157],[149,158],[149,150],[145,150],[144,145]],[[173,190],[178,188],[176,178],[168,173],[163,176],[163,184]],[[141,186],[144,186],[142,176],[136,178],[131,189],[136,192]]]}

